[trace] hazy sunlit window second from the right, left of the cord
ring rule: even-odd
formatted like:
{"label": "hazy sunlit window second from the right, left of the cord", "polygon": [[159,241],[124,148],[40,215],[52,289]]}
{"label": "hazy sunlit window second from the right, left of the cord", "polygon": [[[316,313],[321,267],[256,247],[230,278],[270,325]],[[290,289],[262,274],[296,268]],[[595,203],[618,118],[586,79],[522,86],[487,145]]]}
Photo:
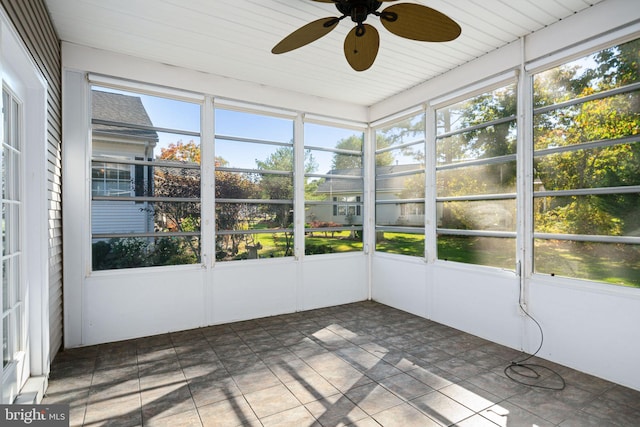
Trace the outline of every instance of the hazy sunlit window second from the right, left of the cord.
{"label": "hazy sunlit window second from the right, left of the cord", "polygon": [[516,91],[436,111],[438,258],[515,268]]}

